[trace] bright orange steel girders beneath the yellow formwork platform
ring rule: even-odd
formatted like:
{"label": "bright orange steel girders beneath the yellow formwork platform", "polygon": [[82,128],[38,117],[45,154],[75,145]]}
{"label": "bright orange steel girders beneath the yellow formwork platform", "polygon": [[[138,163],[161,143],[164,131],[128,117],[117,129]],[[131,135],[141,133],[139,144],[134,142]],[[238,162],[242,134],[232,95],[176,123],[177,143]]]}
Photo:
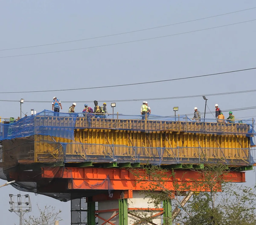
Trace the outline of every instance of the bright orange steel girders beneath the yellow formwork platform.
{"label": "bright orange steel girders beneath the yellow formwork platform", "polygon": [[[145,170],[138,169],[143,172]],[[201,173],[192,170],[175,170],[174,178],[170,171],[170,179],[165,180],[164,187],[175,190],[173,182],[176,184],[193,186],[195,180],[202,180]],[[145,181],[138,182],[134,175],[124,168],[42,168],[42,178],[62,178],[69,179],[69,190],[74,189],[94,189],[94,190],[145,190],[152,184],[150,177]],[[245,172],[230,171],[223,175],[227,182],[245,182]],[[206,188],[207,189],[207,188]],[[197,191],[198,189],[189,189]],[[200,189],[202,191],[202,188]]]}

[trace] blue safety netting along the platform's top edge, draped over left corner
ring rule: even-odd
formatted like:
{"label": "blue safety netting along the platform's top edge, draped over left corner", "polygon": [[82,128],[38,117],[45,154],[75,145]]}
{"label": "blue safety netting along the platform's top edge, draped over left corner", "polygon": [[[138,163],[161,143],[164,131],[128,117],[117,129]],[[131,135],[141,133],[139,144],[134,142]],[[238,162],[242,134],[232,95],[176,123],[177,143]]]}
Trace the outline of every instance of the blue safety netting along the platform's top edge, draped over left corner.
{"label": "blue safety netting along the platform's top edge, draped over left corner", "polygon": [[[179,127],[176,126],[178,123]],[[123,130],[161,130],[175,129],[189,132],[219,132],[231,131],[243,133],[252,139],[254,136],[254,119],[226,121],[222,128],[218,126],[204,127],[203,124],[216,123],[216,119],[193,120],[187,115],[160,116],[150,114],[146,118],[141,115],[125,114],[91,114],[91,113],[57,113],[44,110],[35,115],[26,116],[18,121],[1,123],[0,140],[28,137],[33,135],[49,135],[74,140],[74,129],[98,128],[98,129],[123,129]],[[196,123],[197,126],[190,126]],[[219,123],[220,124],[220,123]],[[236,125],[235,125],[236,124]],[[235,126],[230,129],[230,126]],[[240,130],[238,130],[240,129]],[[243,129],[245,132],[242,132]]]}

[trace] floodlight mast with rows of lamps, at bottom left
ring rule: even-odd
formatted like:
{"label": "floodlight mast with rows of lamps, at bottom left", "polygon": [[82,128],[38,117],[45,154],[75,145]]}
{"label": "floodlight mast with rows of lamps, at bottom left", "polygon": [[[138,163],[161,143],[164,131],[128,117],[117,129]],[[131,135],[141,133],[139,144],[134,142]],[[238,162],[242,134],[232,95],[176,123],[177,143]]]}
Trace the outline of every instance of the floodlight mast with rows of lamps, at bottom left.
{"label": "floodlight mast with rows of lamps, at bottom left", "polygon": [[10,196],[10,212],[15,212],[20,217],[20,225],[23,225],[23,215],[31,212],[31,202],[29,195],[13,195]]}

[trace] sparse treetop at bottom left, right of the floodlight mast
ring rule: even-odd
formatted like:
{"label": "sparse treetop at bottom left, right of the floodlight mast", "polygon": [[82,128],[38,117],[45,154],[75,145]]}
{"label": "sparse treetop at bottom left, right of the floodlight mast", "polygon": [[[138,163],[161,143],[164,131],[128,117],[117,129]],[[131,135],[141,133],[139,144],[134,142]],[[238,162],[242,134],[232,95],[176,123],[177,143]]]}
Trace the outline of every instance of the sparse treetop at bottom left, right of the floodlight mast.
{"label": "sparse treetop at bottom left, right of the floodlight mast", "polygon": [[25,225],[54,225],[55,221],[61,221],[60,213],[61,211],[55,211],[55,207],[44,206],[44,209],[41,210],[38,205],[37,208],[39,210],[40,215],[29,216],[28,219],[25,219]]}

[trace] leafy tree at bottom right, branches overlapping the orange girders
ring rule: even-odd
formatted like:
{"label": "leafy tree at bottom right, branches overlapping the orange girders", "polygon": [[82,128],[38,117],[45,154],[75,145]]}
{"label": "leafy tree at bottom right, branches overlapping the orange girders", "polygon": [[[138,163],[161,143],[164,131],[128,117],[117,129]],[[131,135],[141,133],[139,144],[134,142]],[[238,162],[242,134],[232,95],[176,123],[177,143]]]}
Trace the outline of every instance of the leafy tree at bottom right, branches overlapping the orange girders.
{"label": "leafy tree at bottom right, branches overlapping the orange girders", "polygon": [[[182,184],[175,179],[174,170],[170,173],[160,166],[147,165],[142,171],[131,170],[138,185],[149,182],[147,189],[141,191],[143,195],[150,197],[156,207],[163,201],[172,201],[174,210],[181,209],[170,225],[256,224],[255,189],[225,182],[223,175],[229,172],[226,165],[205,165],[204,169],[198,170],[201,179],[190,179]],[[173,180],[174,190],[166,188],[166,179]],[[182,195],[188,194],[191,198],[183,206]],[[164,219],[171,221],[171,218]],[[151,218],[145,216],[137,224],[147,224],[147,220],[150,222]]]}

